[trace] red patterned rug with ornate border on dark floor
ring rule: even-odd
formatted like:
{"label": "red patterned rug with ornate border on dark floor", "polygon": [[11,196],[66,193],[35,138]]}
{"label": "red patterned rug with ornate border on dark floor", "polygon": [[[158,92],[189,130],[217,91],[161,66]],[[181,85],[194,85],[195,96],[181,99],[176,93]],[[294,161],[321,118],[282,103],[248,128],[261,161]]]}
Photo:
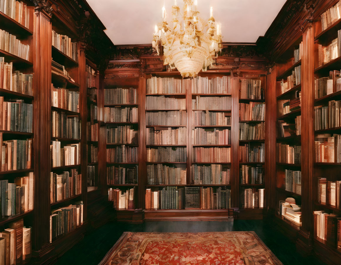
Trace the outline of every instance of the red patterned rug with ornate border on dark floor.
{"label": "red patterned rug with ornate border on dark floor", "polygon": [[283,265],[255,232],[124,232],[99,265]]}

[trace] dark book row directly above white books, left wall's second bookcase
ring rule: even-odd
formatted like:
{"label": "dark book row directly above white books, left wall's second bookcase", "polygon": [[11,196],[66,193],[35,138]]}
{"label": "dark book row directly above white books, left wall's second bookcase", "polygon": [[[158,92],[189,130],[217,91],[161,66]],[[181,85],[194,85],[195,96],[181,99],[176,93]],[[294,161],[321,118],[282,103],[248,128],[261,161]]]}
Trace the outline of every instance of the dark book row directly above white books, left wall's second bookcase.
{"label": "dark book row directly above white books, left wall's second bookcase", "polygon": [[65,112],[51,111],[51,136],[80,139],[80,120],[78,115],[66,115]]}

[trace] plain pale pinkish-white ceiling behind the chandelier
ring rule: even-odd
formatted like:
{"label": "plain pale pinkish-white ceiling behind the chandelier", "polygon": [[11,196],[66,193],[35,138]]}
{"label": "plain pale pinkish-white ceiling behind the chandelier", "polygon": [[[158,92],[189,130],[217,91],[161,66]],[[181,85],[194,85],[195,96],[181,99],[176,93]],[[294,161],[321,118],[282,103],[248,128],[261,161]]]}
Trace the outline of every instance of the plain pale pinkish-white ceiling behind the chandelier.
{"label": "plain pale pinkish-white ceiling behind the chandelier", "polygon": [[[171,17],[174,0],[87,0],[115,45],[148,44],[165,6]],[[256,42],[263,36],[286,0],[197,0],[199,15],[221,23],[223,42]],[[177,0],[181,6],[182,0]],[[181,12],[182,13],[182,12]],[[170,20],[170,19],[168,19]]]}

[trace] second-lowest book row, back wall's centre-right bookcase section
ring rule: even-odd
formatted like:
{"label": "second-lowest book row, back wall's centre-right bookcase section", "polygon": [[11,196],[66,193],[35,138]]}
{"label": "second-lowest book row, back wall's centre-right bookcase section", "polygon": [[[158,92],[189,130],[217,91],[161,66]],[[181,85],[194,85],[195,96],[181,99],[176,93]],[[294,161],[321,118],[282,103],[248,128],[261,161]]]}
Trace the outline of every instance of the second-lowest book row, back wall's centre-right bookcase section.
{"label": "second-lowest book row, back wall's centre-right bookcase section", "polygon": [[199,166],[194,164],[192,169],[192,184],[222,184],[229,185],[231,181],[231,171],[222,165],[212,164],[209,166]]}

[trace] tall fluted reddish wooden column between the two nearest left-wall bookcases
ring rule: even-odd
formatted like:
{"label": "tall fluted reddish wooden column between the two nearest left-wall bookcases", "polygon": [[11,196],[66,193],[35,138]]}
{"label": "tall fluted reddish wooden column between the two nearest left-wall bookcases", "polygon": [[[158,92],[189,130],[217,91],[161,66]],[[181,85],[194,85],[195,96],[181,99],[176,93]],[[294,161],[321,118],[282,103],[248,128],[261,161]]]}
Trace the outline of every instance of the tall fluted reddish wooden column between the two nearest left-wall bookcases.
{"label": "tall fluted reddish wooden column between the two nearest left-wall bookcases", "polygon": [[35,9],[33,30],[34,69],[34,229],[33,255],[41,257],[52,246],[50,239],[51,171],[51,16],[40,7]]}

